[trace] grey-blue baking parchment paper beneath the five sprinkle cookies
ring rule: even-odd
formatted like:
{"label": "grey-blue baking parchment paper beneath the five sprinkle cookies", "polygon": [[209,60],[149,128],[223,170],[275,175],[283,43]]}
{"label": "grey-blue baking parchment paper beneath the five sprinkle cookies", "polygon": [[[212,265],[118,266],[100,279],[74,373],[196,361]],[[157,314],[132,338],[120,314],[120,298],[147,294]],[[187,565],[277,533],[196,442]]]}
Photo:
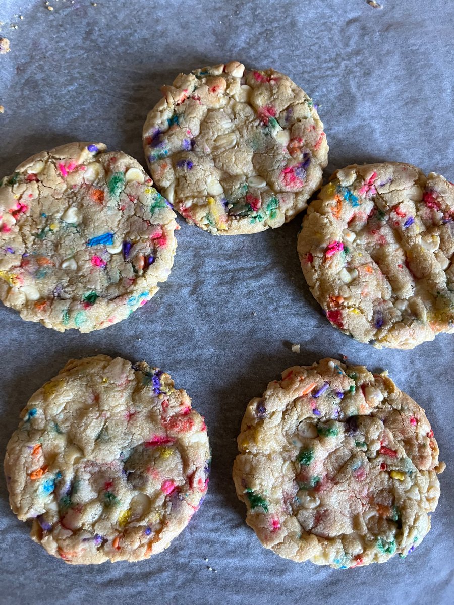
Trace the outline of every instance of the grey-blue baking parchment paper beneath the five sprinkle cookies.
{"label": "grey-blue baking parchment paper beneath the five sprinkle cookies", "polygon": [[[51,0],[50,11],[44,1],[1,0],[0,34],[11,42],[0,56],[1,176],[73,140],[99,140],[143,163],[142,124],[160,85],[179,71],[239,59],[289,74],[320,105],[331,147],[326,177],[352,162],[394,160],[454,180],[453,3],[383,4]],[[22,407],[67,359],[146,359],[169,371],[206,417],[212,474],[205,503],[148,561],[70,566],[31,541],[1,479],[0,603],[453,603],[454,336],[409,352],[379,351],[331,327],[298,263],[301,217],[231,238],[179,223],[168,282],[120,324],[61,334],[0,306],[0,446],[3,456]],[[291,352],[294,343],[300,355]],[[373,371],[389,369],[426,409],[447,463],[421,546],[405,559],[347,570],[293,563],[262,548],[231,480],[249,399],[285,368],[341,353]]]}

